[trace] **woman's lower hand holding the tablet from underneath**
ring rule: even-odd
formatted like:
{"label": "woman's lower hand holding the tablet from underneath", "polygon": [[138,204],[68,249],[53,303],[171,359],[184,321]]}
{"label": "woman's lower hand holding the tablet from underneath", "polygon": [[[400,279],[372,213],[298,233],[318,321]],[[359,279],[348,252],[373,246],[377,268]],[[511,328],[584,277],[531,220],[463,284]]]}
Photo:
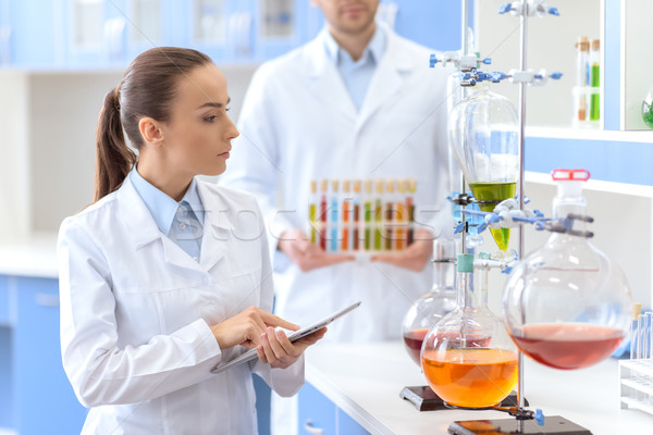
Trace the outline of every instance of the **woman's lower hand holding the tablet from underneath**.
{"label": "woman's lower hand holding the tablet from underneath", "polygon": [[273,369],[286,369],[297,361],[307,347],[316,344],[325,333],[326,328],[323,327],[291,343],[283,331],[268,327],[261,334],[261,344],[256,347],[256,352],[261,362],[269,363]]}

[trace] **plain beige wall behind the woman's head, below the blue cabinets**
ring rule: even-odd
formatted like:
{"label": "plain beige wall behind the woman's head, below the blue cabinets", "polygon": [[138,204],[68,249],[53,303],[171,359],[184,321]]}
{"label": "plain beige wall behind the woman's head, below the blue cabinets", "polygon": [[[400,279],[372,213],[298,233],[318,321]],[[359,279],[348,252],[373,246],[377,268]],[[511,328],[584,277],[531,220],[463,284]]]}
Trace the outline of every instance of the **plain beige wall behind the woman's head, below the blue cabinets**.
{"label": "plain beige wall behind the woman's head, below the blue cabinets", "polygon": [[[221,66],[234,121],[256,67]],[[97,119],[121,77],[122,71],[0,72],[0,243],[56,232],[93,201]]]}

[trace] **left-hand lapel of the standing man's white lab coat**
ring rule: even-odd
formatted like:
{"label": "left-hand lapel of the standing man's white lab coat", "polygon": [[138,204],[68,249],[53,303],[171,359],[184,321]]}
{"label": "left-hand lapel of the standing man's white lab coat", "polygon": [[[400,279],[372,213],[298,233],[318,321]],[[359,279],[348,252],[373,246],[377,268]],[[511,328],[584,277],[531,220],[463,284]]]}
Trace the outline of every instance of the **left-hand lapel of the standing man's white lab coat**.
{"label": "left-hand lapel of the standing man's white lab coat", "polygon": [[309,42],[305,50],[305,74],[311,94],[323,100],[326,107],[336,108],[349,120],[356,120],[356,107],[333,61],[326,55],[323,36]]}

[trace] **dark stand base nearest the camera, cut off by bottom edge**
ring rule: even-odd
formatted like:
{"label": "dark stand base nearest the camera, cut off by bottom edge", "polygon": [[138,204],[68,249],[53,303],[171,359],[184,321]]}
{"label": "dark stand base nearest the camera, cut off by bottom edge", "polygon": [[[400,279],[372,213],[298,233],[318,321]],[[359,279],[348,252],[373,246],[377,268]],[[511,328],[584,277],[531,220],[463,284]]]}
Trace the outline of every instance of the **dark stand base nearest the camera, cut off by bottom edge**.
{"label": "dark stand base nearest the camera, cut off by bottom edge", "polygon": [[448,433],[453,435],[592,435],[587,428],[570,422],[560,415],[547,415],[544,424],[534,420],[521,420],[518,430],[515,419],[503,420],[467,420],[453,422]]}

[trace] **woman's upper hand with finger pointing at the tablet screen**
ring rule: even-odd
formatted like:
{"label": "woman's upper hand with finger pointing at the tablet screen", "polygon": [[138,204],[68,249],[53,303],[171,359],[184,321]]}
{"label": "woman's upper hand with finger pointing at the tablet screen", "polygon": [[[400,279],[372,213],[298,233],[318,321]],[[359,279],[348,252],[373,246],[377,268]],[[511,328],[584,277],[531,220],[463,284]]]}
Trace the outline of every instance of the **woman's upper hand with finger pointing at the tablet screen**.
{"label": "woman's upper hand with finger pointing at the tablet screen", "polygon": [[211,331],[221,349],[236,345],[251,349],[261,344],[261,334],[264,334],[269,326],[299,330],[299,326],[294,323],[286,322],[258,307],[249,307],[222,323],[211,325]]}

